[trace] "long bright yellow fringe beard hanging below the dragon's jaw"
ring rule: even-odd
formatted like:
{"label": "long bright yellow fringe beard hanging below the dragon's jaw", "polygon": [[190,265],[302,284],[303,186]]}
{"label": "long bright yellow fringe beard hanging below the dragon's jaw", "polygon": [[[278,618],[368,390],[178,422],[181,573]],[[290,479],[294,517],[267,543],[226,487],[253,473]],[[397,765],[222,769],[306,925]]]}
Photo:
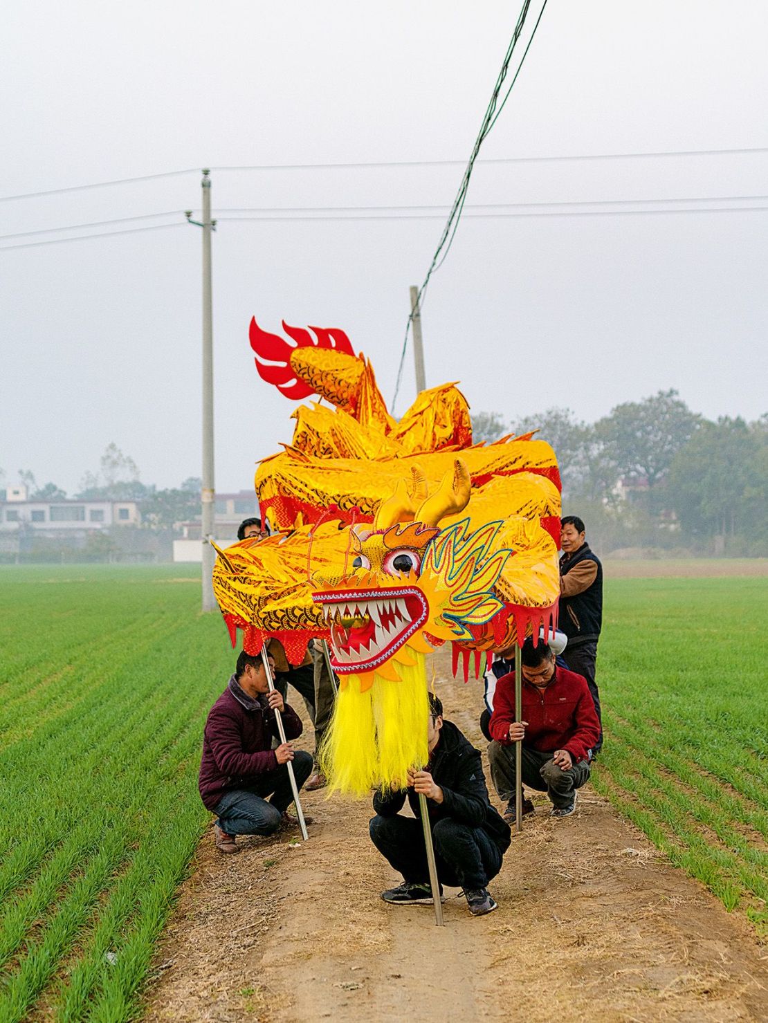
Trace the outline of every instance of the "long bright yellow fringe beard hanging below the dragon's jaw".
{"label": "long bright yellow fringe beard hanging below the dragon's jaw", "polygon": [[409,654],[415,663],[388,662],[396,668],[397,681],[374,672],[373,684],[363,690],[358,675],[344,679],[320,750],[328,795],[404,789],[408,770],[426,763],[430,700],[424,655],[412,648]]}

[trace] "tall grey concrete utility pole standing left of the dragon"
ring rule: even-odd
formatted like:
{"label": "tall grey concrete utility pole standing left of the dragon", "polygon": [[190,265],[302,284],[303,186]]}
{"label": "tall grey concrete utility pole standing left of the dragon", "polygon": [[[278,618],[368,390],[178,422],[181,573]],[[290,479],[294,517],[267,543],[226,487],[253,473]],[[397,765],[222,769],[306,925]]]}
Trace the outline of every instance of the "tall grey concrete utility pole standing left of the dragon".
{"label": "tall grey concrete utility pole standing left of the dragon", "polygon": [[214,315],[211,282],[211,178],[202,172],[202,610],[215,611],[213,571],[216,486],[214,484]]}

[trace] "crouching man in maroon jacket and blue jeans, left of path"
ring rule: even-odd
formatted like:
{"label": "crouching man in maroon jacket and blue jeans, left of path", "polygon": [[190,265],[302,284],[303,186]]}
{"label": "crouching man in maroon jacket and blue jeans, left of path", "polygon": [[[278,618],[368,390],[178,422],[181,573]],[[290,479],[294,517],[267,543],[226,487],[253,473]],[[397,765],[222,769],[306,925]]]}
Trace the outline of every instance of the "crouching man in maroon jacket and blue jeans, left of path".
{"label": "crouching man in maroon jacket and blue jeans, left of path", "polygon": [[[271,657],[269,662],[274,672]],[[209,712],[197,783],[206,807],[219,816],[214,831],[221,852],[240,851],[236,835],[271,835],[281,825],[296,822],[285,812],[293,800],[287,763],[292,761],[301,789],[312,773],[313,760],[310,753],[293,751],[289,742],[272,749],[272,740],[278,738],[276,710],[282,714],[286,739],[298,739],[302,720],[279,693],[269,692],[262,655],[243,651]]]}

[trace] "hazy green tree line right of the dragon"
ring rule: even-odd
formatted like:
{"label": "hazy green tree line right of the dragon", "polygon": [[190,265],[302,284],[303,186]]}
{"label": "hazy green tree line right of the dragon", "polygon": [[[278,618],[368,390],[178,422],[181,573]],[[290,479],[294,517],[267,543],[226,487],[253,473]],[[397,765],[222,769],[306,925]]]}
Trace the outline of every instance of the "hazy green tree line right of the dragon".
{"label": "hazy green tree line right of the dragon", "polygon": [[538,431],[555,450],[563,509],[604,552],[768,555],[768,414],[692,412],[676,391],[625,402],[597,422],[568,408],[507,421],[472,416],[475,440]]}

